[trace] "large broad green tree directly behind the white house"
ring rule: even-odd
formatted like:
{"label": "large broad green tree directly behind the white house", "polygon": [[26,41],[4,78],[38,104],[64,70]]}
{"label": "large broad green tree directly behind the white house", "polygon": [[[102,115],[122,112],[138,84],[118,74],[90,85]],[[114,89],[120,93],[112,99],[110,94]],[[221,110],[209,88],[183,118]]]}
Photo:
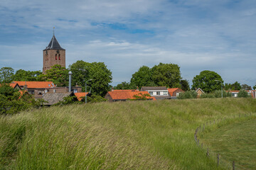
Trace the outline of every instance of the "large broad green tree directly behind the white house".
{"label": "large broad green tree directly behind the white house", "polygon": [[158,86],[181,87],[181,72],[177,64],[159,63],[151,69],[152,80]]}

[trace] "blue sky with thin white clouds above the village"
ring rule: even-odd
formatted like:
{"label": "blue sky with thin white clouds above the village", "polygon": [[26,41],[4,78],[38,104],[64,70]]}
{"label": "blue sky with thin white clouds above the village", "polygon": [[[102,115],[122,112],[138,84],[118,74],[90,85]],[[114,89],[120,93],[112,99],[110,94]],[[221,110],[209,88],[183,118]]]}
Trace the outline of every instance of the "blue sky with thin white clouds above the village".
{"label": "blue sky with thin white clouds above the village", "polygon": [[0,68],[42,70],[53,36],[78,60],[105,62],[112,85],[139,67],[178,64],[224,83],[256,84],[255,0],[0,0]]}

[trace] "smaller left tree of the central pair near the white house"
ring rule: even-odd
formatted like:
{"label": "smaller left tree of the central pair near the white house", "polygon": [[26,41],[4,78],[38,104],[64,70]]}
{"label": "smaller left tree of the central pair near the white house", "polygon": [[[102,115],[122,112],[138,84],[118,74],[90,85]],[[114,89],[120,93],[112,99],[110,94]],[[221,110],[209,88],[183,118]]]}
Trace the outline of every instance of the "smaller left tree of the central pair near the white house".
{"label": "smaller left tree of the central pair near the white house", "polygon": [[137,72],[132,74],[131,86],[142,88],[142,86],[156,86],[151,79],[151,69],[147,66],[142,66]]}

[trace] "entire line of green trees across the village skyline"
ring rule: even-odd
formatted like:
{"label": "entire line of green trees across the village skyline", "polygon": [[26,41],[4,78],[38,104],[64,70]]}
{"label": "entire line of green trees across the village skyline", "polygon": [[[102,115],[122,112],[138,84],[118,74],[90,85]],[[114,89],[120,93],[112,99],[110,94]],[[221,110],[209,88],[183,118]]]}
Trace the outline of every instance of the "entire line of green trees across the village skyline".
{"label": "entire line of green trees across the village skyline", "polygon": [[[51,69],[43,74],[41,71],[26,71],[19,69],[14,74],[11,67],[3,67],[0,69],[0,81],[53,81],[57,86],[68,86],[68,72],[73,72],[72,86],[82,86],[85,91],[85,81],[90,87],[93,94],[104,97],[112,86],[112,72],[107,69],[104,62],[84,62],[78,60],[70,64],[68,69],[60,65],[54,65]],[[200,74],[193,77],[193,84],[190,88],[188,80],[182,79],[181,71],[178,64],[159,63],[154,67],[142,66],[137,72],[132,74],[129,82],[124,81],[114,86],[114,89],[137,89],[142,86],[166,86],[167,88],[181,88],[183,91],[196,90],[201,88],[206,93],[211,93],[221,89],[223,79],[216,72],[204,70]],[[240,84],[235,81],[233,84],[223,84],[225,91],[252,90],[247,84]],[[256,85],[253,86],[256,89]]]}

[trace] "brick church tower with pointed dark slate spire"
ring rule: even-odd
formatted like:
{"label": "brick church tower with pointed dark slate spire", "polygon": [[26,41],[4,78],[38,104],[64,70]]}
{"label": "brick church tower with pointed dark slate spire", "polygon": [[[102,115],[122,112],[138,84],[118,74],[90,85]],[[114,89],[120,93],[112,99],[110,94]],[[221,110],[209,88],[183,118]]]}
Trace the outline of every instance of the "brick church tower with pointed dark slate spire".
{"label": "brick church tower with pointed dark slate spire", "polygon": [[43,74],[46,74],[46,70],[51,69],[55,64],[65,67],[65,49],[60,47],[53,33],[49,45],[43,50]]}

